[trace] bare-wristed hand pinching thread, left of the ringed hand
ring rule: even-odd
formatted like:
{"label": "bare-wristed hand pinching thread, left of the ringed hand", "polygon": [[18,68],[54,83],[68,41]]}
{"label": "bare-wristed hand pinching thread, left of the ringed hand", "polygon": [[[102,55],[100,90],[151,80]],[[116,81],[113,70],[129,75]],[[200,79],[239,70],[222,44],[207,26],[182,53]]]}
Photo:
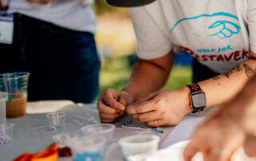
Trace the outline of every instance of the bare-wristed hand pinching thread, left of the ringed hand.
{"label": "bare-wristed hand pinching thread, left of the ringed hand", "polygon": [[126,105],[132,102],[132,96],[127,92],[115,89],[104,89],[98,99],[98,113],[102,123],[111,123],[125,114]]}

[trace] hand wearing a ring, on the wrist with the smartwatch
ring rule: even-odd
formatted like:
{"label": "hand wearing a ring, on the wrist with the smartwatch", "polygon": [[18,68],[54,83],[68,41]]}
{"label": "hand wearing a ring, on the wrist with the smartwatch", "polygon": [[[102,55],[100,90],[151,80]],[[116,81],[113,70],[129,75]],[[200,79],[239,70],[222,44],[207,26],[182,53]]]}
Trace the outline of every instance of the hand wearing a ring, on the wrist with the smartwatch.
{"label": "hand wearing a ring, on the wrist with the smartwatch", "polygon": [[126,112],[150,127],[175,126],[192,111],[189,93],[187,87],[153,92],[131,104]]}

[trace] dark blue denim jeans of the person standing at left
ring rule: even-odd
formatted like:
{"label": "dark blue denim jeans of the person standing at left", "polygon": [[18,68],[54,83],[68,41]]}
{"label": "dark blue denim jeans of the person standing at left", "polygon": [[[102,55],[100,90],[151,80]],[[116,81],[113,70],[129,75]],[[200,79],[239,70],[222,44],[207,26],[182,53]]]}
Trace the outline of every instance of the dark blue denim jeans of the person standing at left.
{"label": "dark blue denim jeans of the person standing at left", "polygon": [[30,72],[28,100],[92,103],[100,61],[92,33],[14,14],[14,42],[0,44],[0,73]]}

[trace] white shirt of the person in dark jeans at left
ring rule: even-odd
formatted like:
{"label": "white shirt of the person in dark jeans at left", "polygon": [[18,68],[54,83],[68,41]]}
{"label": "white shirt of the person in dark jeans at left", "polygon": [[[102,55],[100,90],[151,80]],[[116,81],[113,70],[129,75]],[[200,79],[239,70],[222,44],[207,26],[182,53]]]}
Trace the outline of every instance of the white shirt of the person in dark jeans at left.
{"label": "white shirt of the person in dark jeans at left", "polygon": [[96,18],[92,2],[94,0],[54,0],[42,4],[11,0],[8,13],[25,14],[68,29],[95,33]]}

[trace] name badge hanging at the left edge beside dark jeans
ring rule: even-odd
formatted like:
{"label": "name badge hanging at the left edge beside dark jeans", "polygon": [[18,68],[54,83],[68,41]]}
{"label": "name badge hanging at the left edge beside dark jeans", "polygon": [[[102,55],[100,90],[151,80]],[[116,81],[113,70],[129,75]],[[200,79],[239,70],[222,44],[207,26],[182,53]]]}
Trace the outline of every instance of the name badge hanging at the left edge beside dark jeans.
{"label": "name badge hanging at the left edge beside dark jeans", "polygon": [[12,44],[14,38],[14,14],[0,14],[0,43]]}

